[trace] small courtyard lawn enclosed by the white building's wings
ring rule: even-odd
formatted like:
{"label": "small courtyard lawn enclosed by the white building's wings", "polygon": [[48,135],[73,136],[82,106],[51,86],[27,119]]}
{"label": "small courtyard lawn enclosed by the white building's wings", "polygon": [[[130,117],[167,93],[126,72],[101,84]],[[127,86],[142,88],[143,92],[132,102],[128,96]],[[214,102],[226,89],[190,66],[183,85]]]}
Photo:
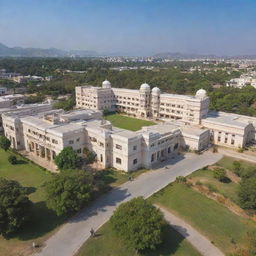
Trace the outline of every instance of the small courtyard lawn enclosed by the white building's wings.
{"label": "small courtyard lawn enclosed by the white building's wings", "polygon": [[120,114],[109,114],[104,116],[104,118],[110,121],[113,126],[130,131],[138,131],[141,129],[142,126],[149,126],[155,124],[152,121],[141,120],[134,117],[123,116]]}

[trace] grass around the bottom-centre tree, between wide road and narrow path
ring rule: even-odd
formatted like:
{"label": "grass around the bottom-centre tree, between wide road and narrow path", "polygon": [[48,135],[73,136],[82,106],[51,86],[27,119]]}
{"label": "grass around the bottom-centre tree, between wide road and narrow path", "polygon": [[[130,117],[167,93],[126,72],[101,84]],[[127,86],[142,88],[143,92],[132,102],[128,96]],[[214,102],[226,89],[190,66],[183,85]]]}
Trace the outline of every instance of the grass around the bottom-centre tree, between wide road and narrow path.
{"label": "grass around the bottom-centre tree, between wide road and narrow path", "polygon": [[178,232],[170,226],[164,231],[163,244],[153,252],[138,254],[112,231],[109,222],[103,225],[95,238],[90,238],[76,256],[197,256],[194,249]]}

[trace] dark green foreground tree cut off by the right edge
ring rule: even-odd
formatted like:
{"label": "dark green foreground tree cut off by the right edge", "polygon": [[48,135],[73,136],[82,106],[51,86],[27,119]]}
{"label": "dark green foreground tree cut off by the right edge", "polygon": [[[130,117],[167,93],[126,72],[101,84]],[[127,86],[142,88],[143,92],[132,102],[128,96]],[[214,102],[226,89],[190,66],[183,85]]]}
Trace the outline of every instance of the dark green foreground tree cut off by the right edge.
{"label": "dark green foreground tree cut off by the right edge", "polygon": [[238,196],[242,208],[256,209],[256,177],[241,180]]}

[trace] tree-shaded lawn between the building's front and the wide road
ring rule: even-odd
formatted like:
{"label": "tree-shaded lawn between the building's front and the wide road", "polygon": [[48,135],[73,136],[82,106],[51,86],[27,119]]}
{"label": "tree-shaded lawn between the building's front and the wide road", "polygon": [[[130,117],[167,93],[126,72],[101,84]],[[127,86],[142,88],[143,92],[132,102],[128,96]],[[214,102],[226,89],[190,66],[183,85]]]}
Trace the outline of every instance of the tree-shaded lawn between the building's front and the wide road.
{"label": "tree-shaded lawn between the building's front and the wide road", "polygon": [[[29,198],[34,206],[29,222],[24,227],[6,240],[0,236],[0,255],[28,255],[32,241],[41,243],[51,235],[65,220],[66,216],[58,217],[52,210],[46,207],[45,192],[42,185],[48,181],[52,174],[43,168],[17,156],[20,161],[17,165],[8,162],[9,151],[0,149],[0,177],[18,181],[22,186],[29,187]],[[145,172],[145,169],[132,174],[108,170],[104,174],[104,180],[112,187],[128,181],[129,176],[136,177]]]}

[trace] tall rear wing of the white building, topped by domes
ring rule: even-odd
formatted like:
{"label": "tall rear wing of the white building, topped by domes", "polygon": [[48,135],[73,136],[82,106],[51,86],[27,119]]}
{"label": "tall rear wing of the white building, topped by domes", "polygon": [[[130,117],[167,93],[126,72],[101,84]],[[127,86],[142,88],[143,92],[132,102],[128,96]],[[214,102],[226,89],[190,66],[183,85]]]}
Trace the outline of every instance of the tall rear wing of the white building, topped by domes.
{"label": "tall rear wing of the white building, topped by domes", "polygon": [[199,124],[207,115],[209,98],[204,90],[195,96],[161,93],[146,83],[139,90],[111,88],[109,81],[102,87],[76,87],[77,108],[108,110],[139,118],[183,120]]}

